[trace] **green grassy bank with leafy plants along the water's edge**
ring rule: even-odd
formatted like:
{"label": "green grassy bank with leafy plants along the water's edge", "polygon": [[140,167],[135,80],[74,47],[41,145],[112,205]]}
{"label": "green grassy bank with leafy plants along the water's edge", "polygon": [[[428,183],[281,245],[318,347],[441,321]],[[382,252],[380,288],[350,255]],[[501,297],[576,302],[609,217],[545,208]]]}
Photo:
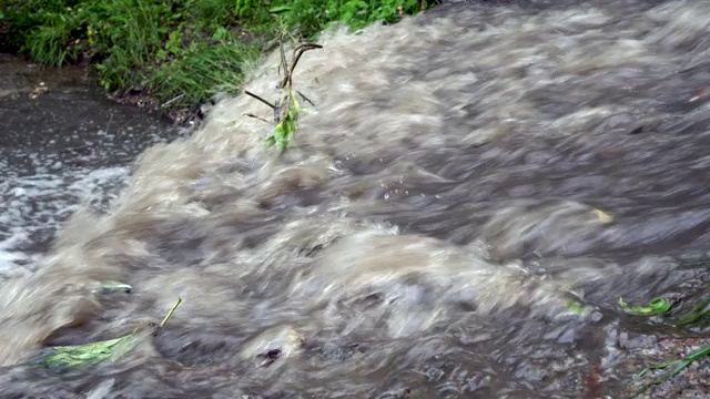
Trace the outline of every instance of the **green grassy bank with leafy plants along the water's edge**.
{"label": "green grassy bank with leafy plants along the water's edge", "polygon": [[111,99],[184,123],[211,96],[239,91],[276,32],[317,40],[337,24],[396,23],[439,2],[0,0],[0,49],[84,65]]}

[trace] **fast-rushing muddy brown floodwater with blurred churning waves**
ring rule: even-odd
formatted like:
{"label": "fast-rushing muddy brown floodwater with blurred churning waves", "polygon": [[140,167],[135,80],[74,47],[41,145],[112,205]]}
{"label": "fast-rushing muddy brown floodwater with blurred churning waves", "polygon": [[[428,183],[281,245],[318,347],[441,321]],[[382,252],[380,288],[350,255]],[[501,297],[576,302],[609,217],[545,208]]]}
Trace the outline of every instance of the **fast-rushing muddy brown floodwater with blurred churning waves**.
{"label": "fast-rushing muddy brown floodwater with blurred churning waves", "polygon": [[[627,396],[618,298],[710,279],[674,258],[710,234],[709,30],[703,1],[498,1],[324,35],[296,68],[315,106],[283,157],[245,116],[268,109],[222,99],[4,284],[0,396]],[[246,89],[276,99],[277,64]],[[0,217],[42,190],[3,184]],[[179,297],[115,364],[28,360]]]}

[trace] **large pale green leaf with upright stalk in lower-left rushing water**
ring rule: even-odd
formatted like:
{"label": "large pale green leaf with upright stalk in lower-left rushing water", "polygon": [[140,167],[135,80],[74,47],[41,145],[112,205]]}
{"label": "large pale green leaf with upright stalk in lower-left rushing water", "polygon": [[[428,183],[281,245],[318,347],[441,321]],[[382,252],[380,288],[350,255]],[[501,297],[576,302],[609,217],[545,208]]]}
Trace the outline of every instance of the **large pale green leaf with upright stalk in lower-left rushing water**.
{"label": "large pale green leaf with upright stalk in lower-left rushing water", "polygon": [[[165,315],[155,332],[165,327],[168,320],[170,320],[181,303],[182,298],[178,298],[178,301],[173,305],[168,315]],[[155,335],[155,332],[153,332],[153,335]],[[45,367],[58,371],[95,366],[108,359],[119,360],[125,354],[133,350],[140,340],[140,335],[130,334],[123,337],[98,342],[51,347],[47,349],[44,355],[42,355],[41,361]]]}

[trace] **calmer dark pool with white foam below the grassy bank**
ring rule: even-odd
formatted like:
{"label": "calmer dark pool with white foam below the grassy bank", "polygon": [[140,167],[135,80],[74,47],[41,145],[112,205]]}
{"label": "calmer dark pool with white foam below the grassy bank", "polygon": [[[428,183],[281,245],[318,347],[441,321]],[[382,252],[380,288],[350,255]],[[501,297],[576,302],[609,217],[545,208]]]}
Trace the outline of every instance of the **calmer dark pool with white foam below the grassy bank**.
{"label": "calmer dark pool with white foam below the grassy bank", "polygon": [[34,270],[82,202],[105,208],[135,156],[179,134],[106,101],[94,79],[0,54],[0,280]]}

